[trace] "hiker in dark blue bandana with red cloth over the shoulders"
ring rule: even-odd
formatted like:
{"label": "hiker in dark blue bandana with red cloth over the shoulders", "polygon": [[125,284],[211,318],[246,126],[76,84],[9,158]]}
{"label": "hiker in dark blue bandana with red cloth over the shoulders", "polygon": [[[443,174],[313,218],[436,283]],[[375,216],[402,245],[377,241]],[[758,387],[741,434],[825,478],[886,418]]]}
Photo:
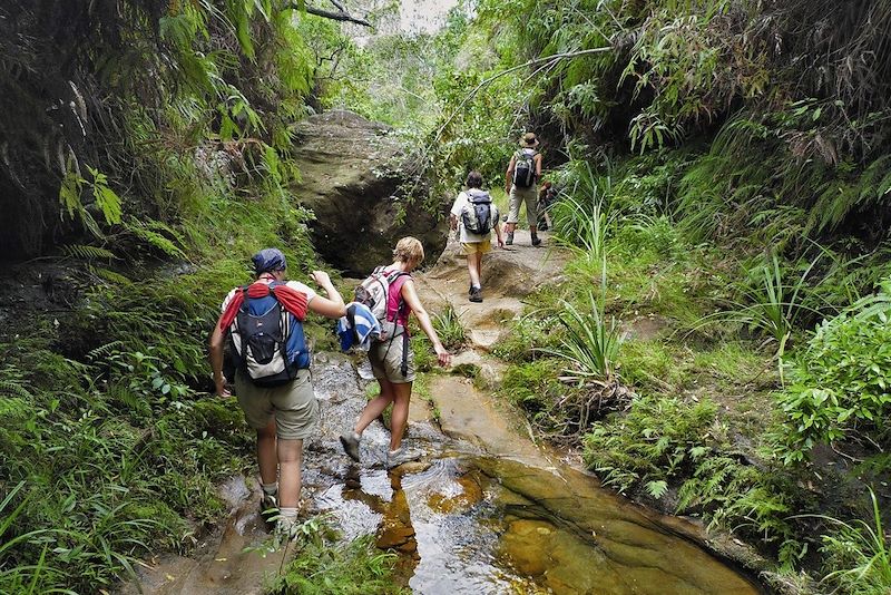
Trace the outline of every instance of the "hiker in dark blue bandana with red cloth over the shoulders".
{"label": "hiker in dark blue bandana with red cloth over the shoulders", "polygon": [[287,264],[277,248],[262,250],[252,261],[256,280],[233,289],[223,301],[210,334],[210,365],[216,393],[227,396],[223,344],[228,339],[236,360],[235,396],[257,432],[261,510],[270,515],[277,508],[278,527],[287,530],[297,515],[303,439],[319,426],[303,320],[307,311],[337,319],[345,309],[324,271],[310,276],[327,298],[285,281]]}

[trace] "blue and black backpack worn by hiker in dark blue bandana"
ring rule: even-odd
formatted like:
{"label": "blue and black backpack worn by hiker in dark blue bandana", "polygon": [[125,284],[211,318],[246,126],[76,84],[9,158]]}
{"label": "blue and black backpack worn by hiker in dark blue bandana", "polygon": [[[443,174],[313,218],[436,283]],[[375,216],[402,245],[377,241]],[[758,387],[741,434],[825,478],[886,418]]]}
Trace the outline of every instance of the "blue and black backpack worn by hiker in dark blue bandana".
{"label": "blue and black backpack worn by hiker in dark blue bandana", "polygon": [[[284,285],[274,282],[270,286]],[[229,339],[238,368],[258,387],[278,387],[310,368],[310,350],[303,323],[285,310],[275,294],[248,298],[248,285],[239,291],[244,302],[232,323]]]}

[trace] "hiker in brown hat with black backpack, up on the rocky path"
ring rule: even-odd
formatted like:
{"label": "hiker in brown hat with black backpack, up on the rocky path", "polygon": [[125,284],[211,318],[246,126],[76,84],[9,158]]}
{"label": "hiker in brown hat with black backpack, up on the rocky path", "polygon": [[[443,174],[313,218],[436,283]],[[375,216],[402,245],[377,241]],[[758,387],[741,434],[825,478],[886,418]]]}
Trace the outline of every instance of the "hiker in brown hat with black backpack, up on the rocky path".
{"label": "hiker in brown hat with black backpack, up on the rocky path", "polygon": [[505,226],[507,240],[505,244],[513,244],[513,230],[520,218],[520,203],[526,203],[526,221],[529,223],[529,233],[532,245],[538,246],[538,212],[536,182],[541,177],[541,154],[538,153],[538,137],[535,133],[526,133],[520,139],[520,149],[513,154],[505,175],[505,192],[510,195],[508,222]]}

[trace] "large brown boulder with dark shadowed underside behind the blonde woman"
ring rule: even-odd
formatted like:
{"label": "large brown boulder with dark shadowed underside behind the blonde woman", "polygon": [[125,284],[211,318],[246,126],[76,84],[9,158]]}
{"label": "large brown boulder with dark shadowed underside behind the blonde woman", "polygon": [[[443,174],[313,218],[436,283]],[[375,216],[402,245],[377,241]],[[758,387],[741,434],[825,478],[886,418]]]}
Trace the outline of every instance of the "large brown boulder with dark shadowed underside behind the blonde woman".
{"label": "large brown boulder with dark shadowed underside behind the blonde woman", "polygon": [[446,247],[448,205],[437,203],[432,213],[420,206],[431,204],[429,185],[405,184],[413,182],[401,167],[408,150],[391,128],[336,110],[310,116],[295,133],[296,198],[315,213],[310,227],[325,261],[366,275],[391,262],[400,237],[413,235],[427,262],[435,262]]}

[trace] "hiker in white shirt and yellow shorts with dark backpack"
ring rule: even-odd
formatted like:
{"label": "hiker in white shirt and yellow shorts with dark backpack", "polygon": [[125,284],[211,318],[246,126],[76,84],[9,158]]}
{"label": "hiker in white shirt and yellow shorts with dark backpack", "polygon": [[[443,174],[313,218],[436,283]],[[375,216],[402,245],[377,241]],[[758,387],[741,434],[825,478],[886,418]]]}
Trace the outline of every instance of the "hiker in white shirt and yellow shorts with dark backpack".
{"label": "hiker in white shirt and yellow shorts with dark backpack", "polygon": [[498,237],[498,247],[503,247],[505,241],[498,207],[492,204],[489,193],[482,189],[482,175],[470,172],[464,185],[467,189],[459,193],[452,204],[449,223],[452,230],[459,230],[461,250],[467,256],[469,299],[479,303],[482,302],[482,255],[492,250],[492,231]]}

